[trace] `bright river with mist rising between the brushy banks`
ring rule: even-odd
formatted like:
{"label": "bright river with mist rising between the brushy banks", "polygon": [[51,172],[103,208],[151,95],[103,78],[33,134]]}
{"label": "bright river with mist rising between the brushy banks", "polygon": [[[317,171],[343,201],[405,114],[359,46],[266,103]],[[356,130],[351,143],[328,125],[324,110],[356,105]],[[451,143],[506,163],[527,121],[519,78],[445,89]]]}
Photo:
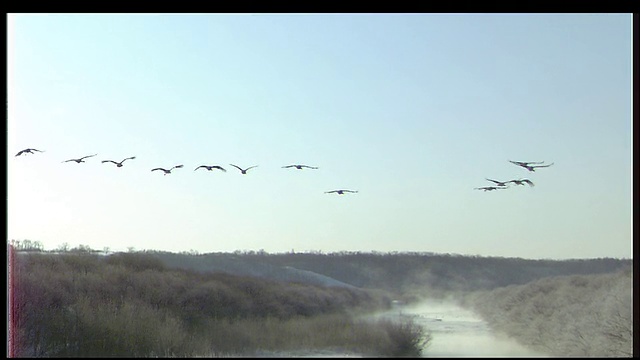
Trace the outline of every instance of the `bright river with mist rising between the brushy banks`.
{"label": "bright river with mist rising between the brushy banks", "polygon": [[496,334],[479,315],[448,301],[398,307],[389,316],[410,316],[431,333],[423,357],[548,357],[506,335]]}

